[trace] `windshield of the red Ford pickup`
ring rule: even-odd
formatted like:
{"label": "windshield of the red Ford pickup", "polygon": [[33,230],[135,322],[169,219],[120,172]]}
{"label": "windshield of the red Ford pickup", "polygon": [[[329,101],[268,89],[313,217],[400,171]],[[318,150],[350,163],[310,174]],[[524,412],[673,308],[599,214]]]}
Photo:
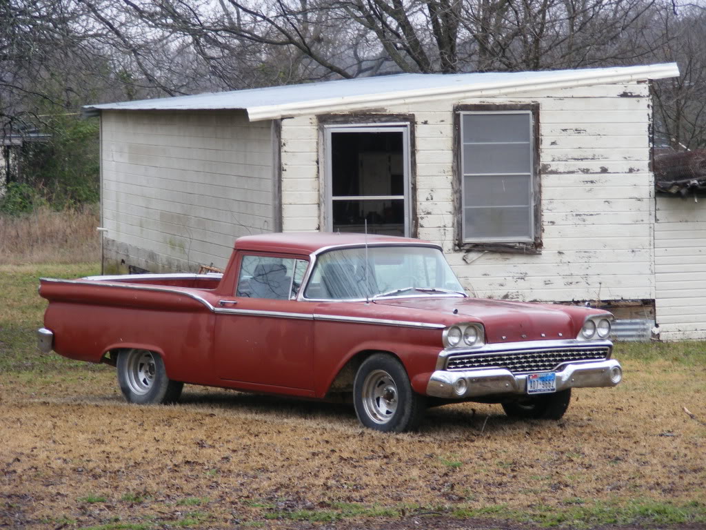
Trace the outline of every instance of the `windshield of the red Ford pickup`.
{"label": "windshield of the red Ford pickup", "polygon": [[321,254],[304,296],[318,300],[361,300],[449,294],[465,295],[440,250],[368,247],[366,252],[362,247]]}

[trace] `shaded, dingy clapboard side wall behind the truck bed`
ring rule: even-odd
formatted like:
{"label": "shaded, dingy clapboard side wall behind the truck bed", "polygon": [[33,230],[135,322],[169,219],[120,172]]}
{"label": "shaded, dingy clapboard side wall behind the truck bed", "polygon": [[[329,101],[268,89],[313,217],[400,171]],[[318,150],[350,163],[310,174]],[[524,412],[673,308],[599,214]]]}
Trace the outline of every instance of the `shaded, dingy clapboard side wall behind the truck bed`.
{"label": "shaded, dingy clapboard side wall behind the truck bed", "polygon": [[234,240],[271,231],[271,122],[221,112],[102,113],[105,237],[183,269],[223,267]]}

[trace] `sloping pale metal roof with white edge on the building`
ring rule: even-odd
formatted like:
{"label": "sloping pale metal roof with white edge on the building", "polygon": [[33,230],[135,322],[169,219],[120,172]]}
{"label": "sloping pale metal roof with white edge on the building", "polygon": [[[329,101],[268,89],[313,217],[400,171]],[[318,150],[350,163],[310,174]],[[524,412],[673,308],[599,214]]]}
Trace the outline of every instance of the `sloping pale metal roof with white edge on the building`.
{"label": "sloping pale metal roof with white edge on the building", "polygon": [[244,110],[252,122],[285,116],[361,110],[383,105],[516,94],[676,77],[676,63],[580,70],[491,73],[401,73],[396,76],[343,79],[301,85],[234,90],[86,105],[100,110]]}

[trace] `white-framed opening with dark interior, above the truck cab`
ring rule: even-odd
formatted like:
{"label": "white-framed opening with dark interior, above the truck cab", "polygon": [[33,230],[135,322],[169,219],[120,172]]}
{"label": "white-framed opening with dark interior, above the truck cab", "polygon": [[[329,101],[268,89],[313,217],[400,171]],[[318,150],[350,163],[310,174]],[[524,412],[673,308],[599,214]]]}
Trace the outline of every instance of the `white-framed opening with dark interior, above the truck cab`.
{"label": "white-framed opening with dark interior, above the truck cab", "polygon": [[328,230],[409,236],[408,127],[325,130]]}

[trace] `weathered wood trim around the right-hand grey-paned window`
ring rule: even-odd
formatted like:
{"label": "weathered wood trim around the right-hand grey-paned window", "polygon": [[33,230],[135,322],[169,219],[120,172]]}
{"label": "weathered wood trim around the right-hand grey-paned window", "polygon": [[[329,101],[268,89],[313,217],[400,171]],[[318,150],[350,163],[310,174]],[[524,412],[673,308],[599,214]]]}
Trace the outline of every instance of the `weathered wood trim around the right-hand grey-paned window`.
{"label": "weathered wood trim around the right-hand grey-paned window", "polygon": [[[532,179],[532,194],[534,199],[534,242],[482,242],[469,243],[463,240],[463,197],[461,194],[461,112],[465,111],[481,111],[481,112],[498,112],[508,110],[530,110],[532,112],[532,158],[534,171]],[[541,136],[539,136],[539,103],[523,103],[523,104],[474,104],[474,105],[454,105],[453,107],[453,195],[455,196],[453,217],[454,223],[454,240],[455,249],[460,252],[469,252],[472,250],[487,251],[487,252],[510,252],[513,254],[542,254],[542,165],[539,160],[539,146],[541,144]]]}

